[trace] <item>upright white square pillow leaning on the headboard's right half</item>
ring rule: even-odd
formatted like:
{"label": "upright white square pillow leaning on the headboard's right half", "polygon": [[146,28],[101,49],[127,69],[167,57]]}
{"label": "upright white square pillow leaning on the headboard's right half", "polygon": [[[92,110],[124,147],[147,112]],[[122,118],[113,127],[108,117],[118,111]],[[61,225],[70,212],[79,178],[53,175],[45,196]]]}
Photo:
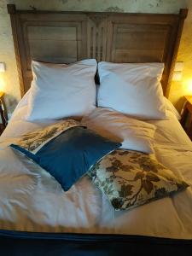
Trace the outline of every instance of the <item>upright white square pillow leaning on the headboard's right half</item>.
{"label": "upright white square pillow leaning on the headboard's right half", "polygon": [[98,106],[113,108],[138,119],[165,119],[160,79],[163,63],[99,62]]}

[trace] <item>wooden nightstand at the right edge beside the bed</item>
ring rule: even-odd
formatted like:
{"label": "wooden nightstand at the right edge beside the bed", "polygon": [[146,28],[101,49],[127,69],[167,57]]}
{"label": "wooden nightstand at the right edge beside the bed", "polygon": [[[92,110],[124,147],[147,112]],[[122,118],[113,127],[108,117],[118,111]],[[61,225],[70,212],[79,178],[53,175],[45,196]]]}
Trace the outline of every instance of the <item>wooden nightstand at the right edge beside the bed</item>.
{"label": "wooden nightstand at the right edge beside the bed", "polygon": [[181,125],[189,138],[192,140],[192,96],[184,96],[184,98],[185,105],[183,108]]}

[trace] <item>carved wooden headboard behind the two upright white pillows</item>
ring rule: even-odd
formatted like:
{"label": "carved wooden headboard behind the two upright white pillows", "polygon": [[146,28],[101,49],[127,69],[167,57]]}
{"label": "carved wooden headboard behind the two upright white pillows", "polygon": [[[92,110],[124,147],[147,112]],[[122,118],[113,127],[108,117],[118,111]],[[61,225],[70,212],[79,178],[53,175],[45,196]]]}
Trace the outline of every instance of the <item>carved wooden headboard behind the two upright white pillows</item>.
{"label": "carved wooden headboard behind the two upright white pillows", "polygon": [[112,62],[164,62],[168,96],[188,10],[178,15],[17,10],[8,4],[21,96],[32,81],[31,61],[71,63],[87,58]]}

